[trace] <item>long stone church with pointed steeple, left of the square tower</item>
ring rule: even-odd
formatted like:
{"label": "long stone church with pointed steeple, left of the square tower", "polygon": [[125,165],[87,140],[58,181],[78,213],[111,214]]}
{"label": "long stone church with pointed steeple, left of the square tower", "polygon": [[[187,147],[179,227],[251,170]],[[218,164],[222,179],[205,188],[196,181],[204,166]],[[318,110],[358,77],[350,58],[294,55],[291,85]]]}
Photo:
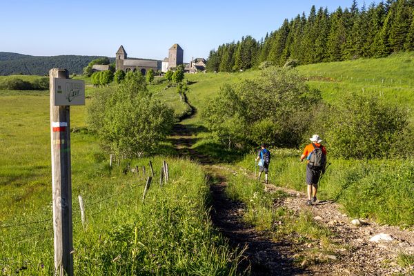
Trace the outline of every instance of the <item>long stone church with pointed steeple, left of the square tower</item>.
{"label": "long stone church with pointed steeple, left of the square tower", "polygon": [[128,59],[128,55],[124,46],[120,46],[115,55],[115,68],[116,70],[123,70],[124,72],[139,71],[142,75],[146,75],[148,70],[152,69],[155,72],[161,69],[161,61],[154,59]]}

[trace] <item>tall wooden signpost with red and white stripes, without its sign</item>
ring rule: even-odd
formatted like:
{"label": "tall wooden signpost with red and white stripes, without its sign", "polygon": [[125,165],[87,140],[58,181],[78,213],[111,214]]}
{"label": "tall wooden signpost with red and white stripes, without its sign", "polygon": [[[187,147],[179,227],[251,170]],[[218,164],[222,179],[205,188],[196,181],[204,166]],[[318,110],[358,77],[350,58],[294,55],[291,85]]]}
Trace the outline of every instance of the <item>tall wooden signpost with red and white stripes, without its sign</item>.
{"label": "tall wooden signpost with red and white stripes, without its sign", "polygon": [[50,139],[55,270],[73,275],[72,186],[70,168],[70,107],[55,106],[54,78],[68,79],[68,70],[52,69],[50,79]]}

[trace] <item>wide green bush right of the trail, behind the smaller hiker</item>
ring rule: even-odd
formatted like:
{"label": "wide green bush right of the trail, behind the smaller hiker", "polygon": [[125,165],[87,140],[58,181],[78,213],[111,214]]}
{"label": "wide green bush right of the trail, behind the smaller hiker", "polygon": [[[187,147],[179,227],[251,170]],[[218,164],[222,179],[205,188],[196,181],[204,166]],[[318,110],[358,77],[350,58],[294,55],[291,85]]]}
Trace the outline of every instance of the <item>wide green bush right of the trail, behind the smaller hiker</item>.
{"label": "wide green bush right of the trail, behind the smaller hiker", "polygon": [[320,92],[295,70],[266,68],[255,80],[223,86],[204,112],[206,126],[228,146],[299,146]]}

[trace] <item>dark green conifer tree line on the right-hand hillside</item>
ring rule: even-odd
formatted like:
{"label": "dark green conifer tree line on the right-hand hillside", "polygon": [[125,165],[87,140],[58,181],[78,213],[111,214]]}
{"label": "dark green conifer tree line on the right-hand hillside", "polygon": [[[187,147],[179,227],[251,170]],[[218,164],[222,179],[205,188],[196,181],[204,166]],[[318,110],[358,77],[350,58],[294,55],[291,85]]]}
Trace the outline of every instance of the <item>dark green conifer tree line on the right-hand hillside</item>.
{"label": "dark green conifer tree line on the right-hand hillside", "polygon": [[225,43],[208,56],[210,72],[232,72],[271,63],[284,66],[344,61],[360,57],[386,57],[392,52],[414,50],[414,0],[386,0],[358,8],[316,10],[290,21],[257,41],[250,35]]}

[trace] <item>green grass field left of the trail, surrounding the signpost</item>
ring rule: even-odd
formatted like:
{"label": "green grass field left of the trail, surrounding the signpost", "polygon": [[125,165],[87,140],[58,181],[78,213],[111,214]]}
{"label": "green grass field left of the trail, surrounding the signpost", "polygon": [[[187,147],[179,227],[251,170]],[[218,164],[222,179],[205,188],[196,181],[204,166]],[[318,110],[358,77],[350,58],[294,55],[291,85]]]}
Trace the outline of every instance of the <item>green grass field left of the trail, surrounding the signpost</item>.
{"label": "green grass field left of the trail, surrounding the signpost", "polygon": [[[16,92],[0,97],[0,106],[0,268],[6,275],[22,267],[28,275],[51,275],[49,97]],[[71,134],[75,274],[235,275],[239,255],[211,225],[201,168],[152,158],[157,175],[142,204],[144,179],[123,175],[126,161],[109,170],[97,138],[83,130],[86,106],[70,110],[72,128],[81,129]],[[164,188],[158,184],[162,159],[171,178]],[[130,163],[148,171],[148,159]],[[77,195],[86,205],[86,232]],[[32,221],[41,222],[26,225]]]}

